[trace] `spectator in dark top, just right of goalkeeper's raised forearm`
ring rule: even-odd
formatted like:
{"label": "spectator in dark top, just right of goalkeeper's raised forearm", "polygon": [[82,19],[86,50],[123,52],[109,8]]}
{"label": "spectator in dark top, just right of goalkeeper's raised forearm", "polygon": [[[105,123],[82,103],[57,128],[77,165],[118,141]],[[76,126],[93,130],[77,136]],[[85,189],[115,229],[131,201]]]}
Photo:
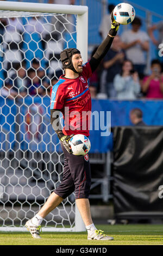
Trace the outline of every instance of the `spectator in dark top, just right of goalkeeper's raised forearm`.
{"label": "spectator in dark top, just right of goalkeeper's raised forearm", "polygon": [[[114,77],[121,72],[122,62],[125,58],[124,52],[121,48],[121,38],[116,35],[112,46],[103,60],[103,66],[106,70],[105,81],[101,83],[101,93],[106,93],[108,97],[116,97],[116,90],[114,88]],[[104,76],[104,74],[103,74]]]}

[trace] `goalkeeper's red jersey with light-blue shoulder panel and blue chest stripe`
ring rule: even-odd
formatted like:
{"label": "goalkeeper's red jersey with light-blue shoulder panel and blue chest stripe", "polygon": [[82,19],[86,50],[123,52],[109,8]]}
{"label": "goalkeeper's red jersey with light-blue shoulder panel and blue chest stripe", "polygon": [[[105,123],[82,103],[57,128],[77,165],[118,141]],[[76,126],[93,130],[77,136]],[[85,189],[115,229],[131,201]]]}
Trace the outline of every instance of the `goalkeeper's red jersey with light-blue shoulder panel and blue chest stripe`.
{"label": "goalkeeper's red jersey with light-blue shoulder panel and blue chest stripe", "polygon": [[91,117],[91,95],[87,79],[92,75],[89,62],[83,65],[83,72],[75,79],[60,76],[51,88],[51,109],[60,109],[65,120],[63,133],[82,133],[89,136]]}

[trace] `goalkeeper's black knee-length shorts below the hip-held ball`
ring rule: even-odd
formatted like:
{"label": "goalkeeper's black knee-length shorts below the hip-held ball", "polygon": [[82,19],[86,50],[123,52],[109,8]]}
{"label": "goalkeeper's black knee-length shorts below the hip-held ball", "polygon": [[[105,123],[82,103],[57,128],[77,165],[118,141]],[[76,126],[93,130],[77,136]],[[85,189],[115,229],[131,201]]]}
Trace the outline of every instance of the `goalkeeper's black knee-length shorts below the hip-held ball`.
{"label": "goalkeeper's black knee-length shorts below the hip-held ball", "polygon": [[64,173],[61,184],[54,190],[58,196],[66,198],[75,191],[75,198],[88,198],[91,187],[91,168],[89,156],[74,156],[64,151]]}

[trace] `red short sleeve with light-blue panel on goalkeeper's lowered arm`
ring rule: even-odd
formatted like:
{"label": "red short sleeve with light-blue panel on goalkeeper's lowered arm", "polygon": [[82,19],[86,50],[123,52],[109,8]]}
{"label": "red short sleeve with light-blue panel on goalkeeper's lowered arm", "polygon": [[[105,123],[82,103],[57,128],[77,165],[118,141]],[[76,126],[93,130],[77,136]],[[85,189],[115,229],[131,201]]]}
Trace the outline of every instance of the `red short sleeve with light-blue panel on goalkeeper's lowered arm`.
{"label": "red short sleeve with light-blue panel on goalkeeper's lowered arm", "polygon": [[55,84],[51,88],[51,109],[62,109],[65,101],[65,90]]}

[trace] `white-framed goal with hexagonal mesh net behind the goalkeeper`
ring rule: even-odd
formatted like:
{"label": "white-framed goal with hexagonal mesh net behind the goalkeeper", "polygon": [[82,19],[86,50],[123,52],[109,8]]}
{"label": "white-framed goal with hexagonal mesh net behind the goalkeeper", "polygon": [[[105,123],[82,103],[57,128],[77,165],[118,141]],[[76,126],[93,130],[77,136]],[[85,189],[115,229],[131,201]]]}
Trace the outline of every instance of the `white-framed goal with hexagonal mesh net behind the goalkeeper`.
{"label": "white-framed goal with hexagonal mesh net behind the goalkeeper", "polygon": [[[64,155],[50,123],[60,52],[87,60],[87,7],[0,2],[0,230],[26,231],[59,186]],[[42,223],[45,231],[83,231],[74,194]]]}

